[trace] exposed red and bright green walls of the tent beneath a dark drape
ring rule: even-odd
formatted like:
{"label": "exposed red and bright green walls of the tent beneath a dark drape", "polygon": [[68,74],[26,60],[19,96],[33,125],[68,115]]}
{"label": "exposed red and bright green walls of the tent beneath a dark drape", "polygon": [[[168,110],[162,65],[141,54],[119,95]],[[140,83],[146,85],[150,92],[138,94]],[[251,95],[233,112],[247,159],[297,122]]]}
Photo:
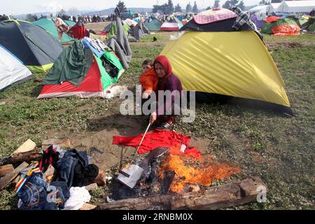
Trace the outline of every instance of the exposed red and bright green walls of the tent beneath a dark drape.
{"label": "exposed red and bright green walls of the tent beneath a dark drape", "polygon": [[[104,57],[104,59],[102,59],[102,57]],[[53,97],[105,98],[106,89],[113,83],[117,83],[124,69],[113,52],[104,52],[101,57],[93,55],[92,59],[93,62],[88,68],[88,72],[80,85],[76,87],[69,83],[69,81],[64,81],[59,85],[44,85],[37,99]],[[107,72],[106,67],[103,66],[103,60],[116,68],[118,72],[115,77],[110,76]],[[69,64],[66,64],[65,66],[68,65]]]}

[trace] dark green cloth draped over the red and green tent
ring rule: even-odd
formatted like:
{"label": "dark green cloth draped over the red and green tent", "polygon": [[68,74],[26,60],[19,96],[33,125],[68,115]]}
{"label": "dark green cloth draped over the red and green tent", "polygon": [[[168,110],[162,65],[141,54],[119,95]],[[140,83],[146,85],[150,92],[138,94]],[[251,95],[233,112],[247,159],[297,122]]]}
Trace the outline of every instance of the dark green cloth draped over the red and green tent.
{"label": "dark green cloth draped over the red and green tent", "polygon": [[60,84],[68,81],[78,87],[92,64],[92,51],[84,50],[83,43],[76,40],[58,57],[52,69],[45,76],[43,85]]}

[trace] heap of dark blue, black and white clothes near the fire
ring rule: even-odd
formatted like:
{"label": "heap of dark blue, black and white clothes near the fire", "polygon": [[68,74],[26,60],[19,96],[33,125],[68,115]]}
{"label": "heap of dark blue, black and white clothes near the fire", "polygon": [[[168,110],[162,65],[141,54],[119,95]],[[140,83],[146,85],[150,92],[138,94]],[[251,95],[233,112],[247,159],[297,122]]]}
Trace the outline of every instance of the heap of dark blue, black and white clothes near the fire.
{"label": "heap of dark blue, black and white clothes near the fire", "polygon": [[[43,151],[38,168],[28,167],[21,172],[21,178],[15,186],[20,198],[21,210],[78,210],[90,201],[85,189],[99,174],[99,168],[90,164],[84,151],[71,149],[64,151],[57,145]],[[44,178],[48,167],[54,167],[57,175],[54,181],[47,183]]]}

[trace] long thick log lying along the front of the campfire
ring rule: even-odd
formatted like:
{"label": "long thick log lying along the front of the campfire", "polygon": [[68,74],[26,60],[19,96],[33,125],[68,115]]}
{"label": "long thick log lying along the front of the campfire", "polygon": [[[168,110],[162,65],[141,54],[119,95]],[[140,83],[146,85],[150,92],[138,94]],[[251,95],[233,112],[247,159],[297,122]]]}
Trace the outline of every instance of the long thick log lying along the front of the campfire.
{"label": "long thick log lying along the front of the campfire", "polygon": [[100,204],[97,209],[220,209],[253,202],[267,186],[259,177],[228,183],[205,190],[203,193],[156,195]]}

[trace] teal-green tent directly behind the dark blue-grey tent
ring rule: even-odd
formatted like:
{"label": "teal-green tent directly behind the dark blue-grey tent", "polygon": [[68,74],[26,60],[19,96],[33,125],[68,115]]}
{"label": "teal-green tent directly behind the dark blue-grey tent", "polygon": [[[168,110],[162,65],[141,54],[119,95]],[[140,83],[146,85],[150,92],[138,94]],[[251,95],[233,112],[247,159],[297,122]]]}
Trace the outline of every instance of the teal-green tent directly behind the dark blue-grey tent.
{"label": "teal-green tent directly behind the dark blue-grey tent", "polygon": [[[34,21],[32,23],[34,25],[37,25],[38,27],[45,29],[45,31],[48,31],[48,33],[50,33],[56,40],[58,40],[58,31],[57,31],[57,27],[55,24],[55,20],[53,20],[51,18],[41,18],[41,19]],[[69,41],[73,41],[73,38],[71,38],[67,34],[63,33],[61,43],[66,43]]]}

